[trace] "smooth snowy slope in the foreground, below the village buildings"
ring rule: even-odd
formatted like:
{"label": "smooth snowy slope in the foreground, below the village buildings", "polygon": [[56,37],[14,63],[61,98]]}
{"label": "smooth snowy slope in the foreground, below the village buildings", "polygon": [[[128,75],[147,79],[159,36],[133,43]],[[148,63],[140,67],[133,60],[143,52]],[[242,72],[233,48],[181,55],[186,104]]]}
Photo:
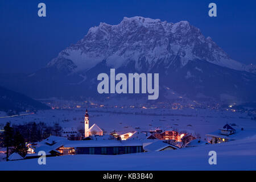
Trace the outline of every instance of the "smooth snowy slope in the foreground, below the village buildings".
{"label": "smooth snowy slope in the foreground, below the village buildings", "polygon": [[[208,163],[209,151],[217,164]],[[179,150],[126,155],[66,155],[46,159],[1,162],[0,170],[256,170],[256,136]]]}

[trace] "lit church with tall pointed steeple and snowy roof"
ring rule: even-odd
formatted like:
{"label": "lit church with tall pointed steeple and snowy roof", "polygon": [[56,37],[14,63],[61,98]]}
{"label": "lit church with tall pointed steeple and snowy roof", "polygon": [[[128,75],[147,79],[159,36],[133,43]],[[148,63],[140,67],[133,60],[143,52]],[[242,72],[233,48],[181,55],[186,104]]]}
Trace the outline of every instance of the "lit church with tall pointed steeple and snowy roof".
{"label": "lit church with tall pointed steeple and snowy roof", "polygon": [[89,114],[88,110],[86,109],[85,115],[84,115],[84,137],[90,137],[92,135],[103,135],[103,131],[101,130],[96,123],[94,123],[90,128],[89,128]]}

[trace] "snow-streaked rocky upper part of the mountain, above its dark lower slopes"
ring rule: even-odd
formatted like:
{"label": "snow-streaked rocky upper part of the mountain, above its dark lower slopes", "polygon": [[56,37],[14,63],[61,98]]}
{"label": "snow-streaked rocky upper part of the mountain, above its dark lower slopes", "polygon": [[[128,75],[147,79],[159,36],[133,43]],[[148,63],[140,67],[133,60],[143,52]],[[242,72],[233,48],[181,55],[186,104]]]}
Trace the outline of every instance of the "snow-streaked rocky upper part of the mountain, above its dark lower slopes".
{"label": "snow-streaked rocky upper part of the mountain, above its dark lower slopes", "polygon": [[90,28],[83,39],[61,51],[47,66],[79,72],[95,67],[102,60],[112,68],[134,61],[137,71],[147,72],[159,61],[171,67],[177,58],[180,67],[198,59],[250,71],[246,65],[230,59],[210,37],[205,38],[199,28],[187,21],[174,24],[141,16],[125,17],[117,25],[100,23]]}

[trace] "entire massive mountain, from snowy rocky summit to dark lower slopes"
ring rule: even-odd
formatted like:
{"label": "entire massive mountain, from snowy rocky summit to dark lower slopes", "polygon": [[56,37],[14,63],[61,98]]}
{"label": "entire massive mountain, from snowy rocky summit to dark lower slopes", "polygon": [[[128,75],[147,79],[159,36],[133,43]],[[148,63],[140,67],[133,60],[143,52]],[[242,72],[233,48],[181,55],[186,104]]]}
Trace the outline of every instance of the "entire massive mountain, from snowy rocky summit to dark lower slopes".
{"label": "entire massive mountain, from snowy rocky summit to dark lower slopes", "polygon": [[102,96],[97,75],[110,68],[117,73],[159,73],[159,99],[166,99],[168,87],[195,100],[256,101],[254,65],[232,60],[187,21],[141,16],[125,17],[117,25],[100,23],[38,72],[9,76],[10,82],[5,76],[0,79],[32,97],[97,98]]}

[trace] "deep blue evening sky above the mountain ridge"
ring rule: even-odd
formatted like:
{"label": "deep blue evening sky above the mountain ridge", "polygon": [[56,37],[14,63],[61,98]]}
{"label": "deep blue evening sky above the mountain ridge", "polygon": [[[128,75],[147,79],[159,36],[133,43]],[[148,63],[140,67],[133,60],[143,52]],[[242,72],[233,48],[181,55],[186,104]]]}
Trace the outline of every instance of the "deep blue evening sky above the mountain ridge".
{"label": "deep blue evening sky above the mountain ridge", "polygon": [[[40,2],[46,3],[46,18],[38,17]],[[210,2],[217,4],[217,18],[208,16]],[[254,0],[0,1],[0,72],[36,71],[90,27],[136,15],[173,23],[188,20],[234,60],[256,64],[255,12]]]}

